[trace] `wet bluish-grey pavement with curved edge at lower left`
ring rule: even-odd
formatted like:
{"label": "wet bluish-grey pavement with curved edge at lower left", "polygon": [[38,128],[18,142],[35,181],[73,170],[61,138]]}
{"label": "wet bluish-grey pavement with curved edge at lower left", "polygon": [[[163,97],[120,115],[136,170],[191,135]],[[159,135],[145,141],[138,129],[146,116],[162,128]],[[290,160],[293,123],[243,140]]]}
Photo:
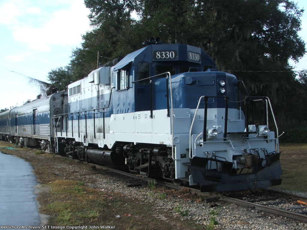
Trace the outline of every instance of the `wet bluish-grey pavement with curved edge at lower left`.
{"label": "wet bluish-grey pavement with curved edge at lower left", "polygon": [[34,186],[36,176],[29,162],[0,152],[0,224],[40,226]]}

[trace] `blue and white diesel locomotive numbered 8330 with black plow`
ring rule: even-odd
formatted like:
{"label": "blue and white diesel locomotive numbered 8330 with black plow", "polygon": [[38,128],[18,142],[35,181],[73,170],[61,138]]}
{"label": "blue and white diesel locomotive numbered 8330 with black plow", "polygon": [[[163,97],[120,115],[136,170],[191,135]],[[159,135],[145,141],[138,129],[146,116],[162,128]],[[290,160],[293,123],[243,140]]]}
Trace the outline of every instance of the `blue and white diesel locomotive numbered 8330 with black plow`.
{"label": "blue and white diesel locomotive numbered 8330 with black plow", "polygon": [[[56,152],[203,191],[279,185],[269,98],[242,100],[242,82],[201,48],[157,38],[144,45],[68,86],[68,112],[52,120]],[[243,113],[243,101],[263,103],[263,124],[253,124],[248,106]]]}

